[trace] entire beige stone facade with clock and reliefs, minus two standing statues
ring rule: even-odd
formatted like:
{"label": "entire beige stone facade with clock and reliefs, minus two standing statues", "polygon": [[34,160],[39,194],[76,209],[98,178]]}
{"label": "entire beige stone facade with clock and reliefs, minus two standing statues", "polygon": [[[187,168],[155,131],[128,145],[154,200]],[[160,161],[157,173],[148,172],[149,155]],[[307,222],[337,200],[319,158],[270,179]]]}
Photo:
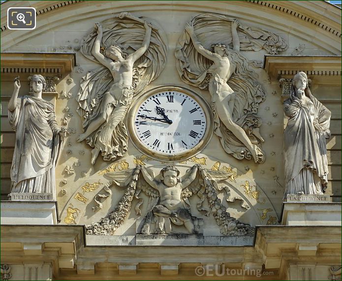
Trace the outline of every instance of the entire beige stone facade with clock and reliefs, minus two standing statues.
{"label": "entire beige stone facade with clock and reliefs, minus two standing statues", "polygon": [[[1,280],[341,279],[341,8],[132,3],[17,1],[33,30],[1,3]],[[317,194],[285,191],[301,71],[331,112]],[[56,116],[49,189],[11,186],[15,79]]]}

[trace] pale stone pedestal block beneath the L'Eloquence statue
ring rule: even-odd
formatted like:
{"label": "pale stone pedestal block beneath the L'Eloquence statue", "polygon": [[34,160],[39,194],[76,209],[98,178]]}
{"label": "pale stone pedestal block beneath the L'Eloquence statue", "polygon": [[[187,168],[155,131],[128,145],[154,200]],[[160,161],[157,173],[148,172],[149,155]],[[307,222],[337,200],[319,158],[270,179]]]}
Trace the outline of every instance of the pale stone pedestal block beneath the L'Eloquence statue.
{"label": "pale stone pedestal block beneath the L'Eloquence statue", "polygon": [[2,225],[57,225],[56,201],[1,201]]}

